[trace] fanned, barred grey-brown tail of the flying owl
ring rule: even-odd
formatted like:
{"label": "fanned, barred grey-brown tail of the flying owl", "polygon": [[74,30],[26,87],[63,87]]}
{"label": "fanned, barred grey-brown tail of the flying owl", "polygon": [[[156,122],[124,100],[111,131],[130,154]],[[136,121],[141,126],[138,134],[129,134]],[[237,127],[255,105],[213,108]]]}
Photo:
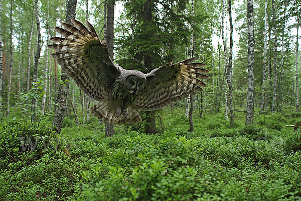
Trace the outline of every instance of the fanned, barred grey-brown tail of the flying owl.
{"label": "fanned, barred grey-brown tail of the flying owl", "polygon": [[99,120],[117,125],[132,124],[142,120],[135,106],[129,106],[126,109],[126,112],[125,110],[122,111],[121,109],[116,109],[117,108],[114,107],[113,104],[110,104],[110,102],[105,99],[95,106],[92,106],[90,112]]}

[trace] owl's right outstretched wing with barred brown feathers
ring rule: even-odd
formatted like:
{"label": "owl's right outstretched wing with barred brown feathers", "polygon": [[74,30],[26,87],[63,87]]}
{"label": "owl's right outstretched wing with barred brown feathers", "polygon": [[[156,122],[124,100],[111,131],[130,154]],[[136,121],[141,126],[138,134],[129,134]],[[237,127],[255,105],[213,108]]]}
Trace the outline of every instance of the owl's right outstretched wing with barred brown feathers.
{"label": "owl's right outstretched wing with barred brown feathers", "polygon": [[140,110],[157,110],[172,102],[176,102],[195,90],[201,91],[200,86],[206,86],[199,79],[208,79],[209,73],[203,63],[192,63],[195,59],[188,59],[176,64],[168,63],[146,74],[143,91],[137,97],[136,105]]}

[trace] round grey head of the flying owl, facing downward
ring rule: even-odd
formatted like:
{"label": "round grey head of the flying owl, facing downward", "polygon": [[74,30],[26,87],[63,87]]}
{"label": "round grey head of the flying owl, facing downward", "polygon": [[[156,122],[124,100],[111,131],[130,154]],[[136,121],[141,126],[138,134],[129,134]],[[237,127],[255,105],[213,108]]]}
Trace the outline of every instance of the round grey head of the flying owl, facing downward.
{"label": "round grey head of the flying owl, facing downward", "polygon": [[144,88],[145,81],[143,73],[133,73],[126,77],[125,86],[129,93],[138,94]]}

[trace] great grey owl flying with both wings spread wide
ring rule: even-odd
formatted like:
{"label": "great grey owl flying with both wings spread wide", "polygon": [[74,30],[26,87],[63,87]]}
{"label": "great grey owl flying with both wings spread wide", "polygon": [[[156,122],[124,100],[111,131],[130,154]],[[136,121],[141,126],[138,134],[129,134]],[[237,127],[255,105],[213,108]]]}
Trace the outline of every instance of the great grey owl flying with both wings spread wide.
{"label": "great grey owl flying with both wings spread wide", "polygon": [[113,124],[141,121],[139,110],[153,111],[201,91],[208,79],[203,63],[188,59],[167,63],[147,74],[126,70],[114,63],[108,47],[100,41],[93,26],[86,27],[77,20],[73,25],[62,23],[65,29],[55,27],[64,36],[51,38],[56,44],[52,57],[62,70],[98,104],[90,108],[99,120]]}

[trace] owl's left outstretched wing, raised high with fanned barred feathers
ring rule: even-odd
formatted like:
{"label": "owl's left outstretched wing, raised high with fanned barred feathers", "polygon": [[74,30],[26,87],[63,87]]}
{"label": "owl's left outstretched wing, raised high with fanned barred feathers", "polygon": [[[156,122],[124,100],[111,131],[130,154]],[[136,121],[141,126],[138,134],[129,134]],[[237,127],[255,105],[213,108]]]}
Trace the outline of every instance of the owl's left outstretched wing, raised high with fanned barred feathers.
{"label": "owl's left outstretched wing, raised high with fanned barred feathers", "polygon": [[100,42],[88,21],[87,27],[74,19],[71,22],[74,26],[62,23],[65,29],[55,27],[65,38],[51,38],[56,44],[48,47],[56,50],[52,57],[86,94],[102,100],[111,93],[122,68],[112,62],[106,43]]}

